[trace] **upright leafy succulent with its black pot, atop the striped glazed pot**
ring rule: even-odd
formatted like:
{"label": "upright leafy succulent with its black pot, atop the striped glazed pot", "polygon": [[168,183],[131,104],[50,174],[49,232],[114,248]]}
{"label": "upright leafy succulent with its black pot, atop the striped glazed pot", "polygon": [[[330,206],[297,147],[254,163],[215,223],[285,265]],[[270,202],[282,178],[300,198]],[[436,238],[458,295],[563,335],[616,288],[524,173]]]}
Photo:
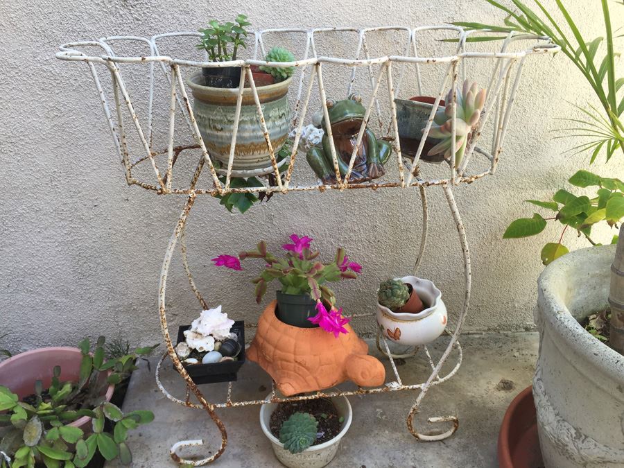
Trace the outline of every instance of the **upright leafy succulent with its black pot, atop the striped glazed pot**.
{"label": "upright leafy succulent with its black pot, atop the striped glazed pot", "polygon": [[[208,28],[200,29],[202,37],[196,48],[205,50],[211,62],[236,60],[239,47],[246,47],[248,32],[245,27],[251,23],[245,15],[238,15],[234,21],[221,24],[212,19],[208,21]],[[228,51],[229,44],[232,44],[232,53]],[[202,74],[207,86],[236,88],[241,80],[241,67],[203,67]]]}

